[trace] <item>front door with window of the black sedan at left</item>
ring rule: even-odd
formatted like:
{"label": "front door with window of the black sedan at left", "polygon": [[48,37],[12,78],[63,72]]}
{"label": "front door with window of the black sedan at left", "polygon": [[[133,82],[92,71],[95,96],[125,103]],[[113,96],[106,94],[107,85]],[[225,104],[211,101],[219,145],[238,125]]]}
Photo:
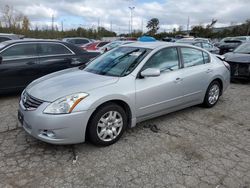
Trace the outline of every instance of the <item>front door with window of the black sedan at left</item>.
{"label": "front door with window of the black sedan at left", "polygon": [[27,86],[39,72],[36,43],[20,43],[0,52],[0,89],[18,89]]}

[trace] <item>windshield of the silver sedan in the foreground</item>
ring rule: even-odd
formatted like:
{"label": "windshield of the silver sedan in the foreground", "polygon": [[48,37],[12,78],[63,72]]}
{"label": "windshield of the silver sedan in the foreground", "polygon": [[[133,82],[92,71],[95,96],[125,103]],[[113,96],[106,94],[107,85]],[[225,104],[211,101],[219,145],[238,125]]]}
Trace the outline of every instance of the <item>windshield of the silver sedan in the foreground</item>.
{"label": "windshield of the silver sedan in the foreground", "polygon": [[126,76],[150,51],[145,48],[119,47],[96,58],[84,70],[100,75]]}

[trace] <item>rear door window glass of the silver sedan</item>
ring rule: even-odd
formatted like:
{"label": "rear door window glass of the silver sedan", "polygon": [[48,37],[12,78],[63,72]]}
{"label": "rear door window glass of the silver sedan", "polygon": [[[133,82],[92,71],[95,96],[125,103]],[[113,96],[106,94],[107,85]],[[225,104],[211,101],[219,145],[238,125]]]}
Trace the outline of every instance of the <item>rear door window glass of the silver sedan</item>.
{"label": "rear door window glass of the silver sedan", "polygon": [[184,67],[204,64],[203,53],[194,48],[181,48]]}

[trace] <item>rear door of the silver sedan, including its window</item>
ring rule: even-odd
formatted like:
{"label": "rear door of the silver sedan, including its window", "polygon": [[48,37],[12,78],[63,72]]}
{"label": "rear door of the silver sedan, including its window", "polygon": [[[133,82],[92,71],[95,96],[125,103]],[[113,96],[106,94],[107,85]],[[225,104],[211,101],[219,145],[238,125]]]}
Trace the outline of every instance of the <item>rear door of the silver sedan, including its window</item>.
{"label": "rear door of the silver sedan, including its window", "polygon": [[181,47],[183,102],[203,100],[213,72],[208,53],[189,47]]}

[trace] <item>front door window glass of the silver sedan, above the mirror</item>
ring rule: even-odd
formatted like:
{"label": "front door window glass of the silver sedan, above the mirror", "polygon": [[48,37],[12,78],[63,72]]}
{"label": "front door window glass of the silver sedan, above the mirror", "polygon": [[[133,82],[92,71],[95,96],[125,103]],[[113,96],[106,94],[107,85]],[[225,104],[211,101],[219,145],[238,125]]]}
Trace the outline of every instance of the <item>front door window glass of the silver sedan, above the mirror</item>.
{"label": "front door window glass of the silver sedan, above the mirror", "polygon": [[154,54],[144,65],[147,68],[158,68],[161,72],[179,69],[179,57],[177,48],[165,48]]}

